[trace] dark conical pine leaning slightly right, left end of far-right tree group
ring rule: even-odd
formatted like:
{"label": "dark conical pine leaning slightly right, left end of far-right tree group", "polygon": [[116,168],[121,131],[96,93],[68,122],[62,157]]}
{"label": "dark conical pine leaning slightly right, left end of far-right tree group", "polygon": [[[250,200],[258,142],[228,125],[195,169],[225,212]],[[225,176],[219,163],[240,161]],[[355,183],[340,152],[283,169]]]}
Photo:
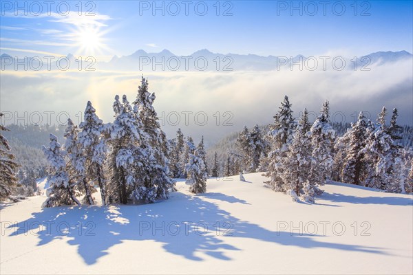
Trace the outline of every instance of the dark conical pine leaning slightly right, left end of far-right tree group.
{"label": "dark conical pine leaning slightly right, left end of far-right tree group", "polygon": [[364,120],[366,117],[361,111],[359,118],[352,125],[349,133],[346,157],[341,168],[341,181],[348,184],[363,185],[362,176],[366,173],[366,162],[364,162],[363,148],[366,146],[366,128]]}

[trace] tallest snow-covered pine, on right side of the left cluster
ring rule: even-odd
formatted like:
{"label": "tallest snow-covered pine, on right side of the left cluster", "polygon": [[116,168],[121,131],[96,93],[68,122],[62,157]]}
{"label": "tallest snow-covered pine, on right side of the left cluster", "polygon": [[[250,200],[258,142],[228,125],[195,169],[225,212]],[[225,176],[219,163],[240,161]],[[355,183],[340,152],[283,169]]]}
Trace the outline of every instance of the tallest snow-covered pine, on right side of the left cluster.
{"label": "tallest snow-covered pine, on right side of the left cluster", "polygon": [[[141,84],[138,87],[138,96],[134,101],[134,111],[142,122],[143,131],[147,133],[149,144],[144,147],[149,155],[155,157],[155,162],[147,165],[151,183],[148,183],[149,186],[146,186],[146,188],[147,190],[148,188],[154,188],[154,190],[156,190],[155,199],[167,199],[175,183],[169,177],[167,138],[160,128],[158,114],[153,107],[155,98],[155,93],[149,93],[148,81],[142,76]],[[143,196],[146,197],[147,201],[153,201],[153,199],[149,199],[147,195]]]}

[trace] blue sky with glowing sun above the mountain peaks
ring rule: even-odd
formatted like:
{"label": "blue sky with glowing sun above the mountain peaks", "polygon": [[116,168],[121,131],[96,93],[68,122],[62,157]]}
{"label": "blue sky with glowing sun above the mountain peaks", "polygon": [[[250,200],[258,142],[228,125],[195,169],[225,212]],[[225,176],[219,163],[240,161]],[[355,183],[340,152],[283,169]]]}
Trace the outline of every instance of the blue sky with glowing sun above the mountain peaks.
{"label": "blue sky with glowing sun above the mountain peaks", "polygon": [[[91,54],[85,49],[85,42],[79,42],[81,30],[87,26],[98,36],[99,45],[93,54],[102,57],[128,55],[138,49],[168,49],[189,55],[207,48],[223,54],[264,56],[310,56],[331,51],[348,55],[388,50],[412,52],[412,1],[328,1],[326,15],[322,1],[220,1],[219,16],[216,1],[189,2],[186,15],[185,5],[176,1],[180,12],[173,16],[176,5],[169,1],[163,2],[165,15],[162,10],[153,10],[153,1],[94,1],[94,5],[82,1],[83,13],[88,9],[95,12],[94,16],[85,17],[78,15],[78,1],[70,1],[68,15],[63,15],[65,5],[59,5],[59,1],[50,6],[50,14],[47,5],[39,1],[43,9],[39,16],[39,8],[30,5],[30,1],[25,7],[27,16],[24,10],[14,14],[14,1],[2,1],[0,51],[23,56],[32,56],[36,51]],[[207,3],[208,11],[200,16],[203,3]],[[291,10],[291,3],[296,7],[301,3],[301,10]],[[317,12],[313,12],[314,3]],[[24,2],[18,5],[24,7]],[[156,5],[161,6],[162,1]],[[342,5],[346,11],[337,15]],[[225,10],[232,15],[224,16]],[[362,16],[363,11],[370,15]]]}

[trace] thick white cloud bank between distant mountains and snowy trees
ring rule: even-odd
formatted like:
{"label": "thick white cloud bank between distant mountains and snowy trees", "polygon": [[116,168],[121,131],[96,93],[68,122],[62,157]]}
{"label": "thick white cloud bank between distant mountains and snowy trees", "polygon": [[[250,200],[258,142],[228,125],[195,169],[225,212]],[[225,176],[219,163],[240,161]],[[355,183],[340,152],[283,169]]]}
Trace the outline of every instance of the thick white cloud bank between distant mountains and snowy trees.
{"label": "thick white cloud bank between distant mountains and snowy trees", "polygon": [[[28,72],[2,76],[1,99],[5,111],[83,111],[92,100],[98,114],[109,122],[116,94],[136,97],[142,72]],[[165,122],[172,112],[180,114],[180,124],[164,128],[169,137],[180,127],[198,140],[218,138],[239,131],[242,126],[267,124],[273,120],[284,95],[293,104],[294,115],[306,107],[314,118],[321,103],[328,99],[336,121],[341,115],[348,122],[354,113],[367,111],[376,119],[381,107],[399,109],[401,124],[412,124],[412,66],[410,61],[372,66],[361,71],[293,71],[273,72],[143,72],[149,78],[149,90],[156,92],[155,107]],[[18,80],[17,80],[18,79]],[[35,79],[35,81],[33,80]],[[47,93],[45,92],[47,91]],[[50,94],[52,93],[52,94]],[[32,100],[21,100],[32,98]],[[7,102],[7,103],[6,103]],[[185,126],[182,111],[191,111]],[[231,112],[229,118],[224,112]],[[207,114],[204,126],[196,124],[195,113]],[[217,113],[219,112],[219,113]],[[217,126],[217,115],[220,121]],[[169,117],[171,120],[172,116]]]}

